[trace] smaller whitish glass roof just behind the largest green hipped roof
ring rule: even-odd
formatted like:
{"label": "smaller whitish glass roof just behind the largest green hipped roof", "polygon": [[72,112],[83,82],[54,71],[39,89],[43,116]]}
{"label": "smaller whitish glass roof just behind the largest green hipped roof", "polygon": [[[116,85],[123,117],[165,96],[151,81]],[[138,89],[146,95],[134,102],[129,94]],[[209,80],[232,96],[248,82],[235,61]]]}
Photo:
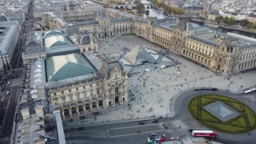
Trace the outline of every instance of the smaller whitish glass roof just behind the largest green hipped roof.
{"label": "smaller whitish glass roof just behind the largest green hipped roof", "polygon": [[46,48],[60,46],[60,45],[70,45],[70,44],[72,44],[71,41],[63,35],[45,38],[45,47]]}

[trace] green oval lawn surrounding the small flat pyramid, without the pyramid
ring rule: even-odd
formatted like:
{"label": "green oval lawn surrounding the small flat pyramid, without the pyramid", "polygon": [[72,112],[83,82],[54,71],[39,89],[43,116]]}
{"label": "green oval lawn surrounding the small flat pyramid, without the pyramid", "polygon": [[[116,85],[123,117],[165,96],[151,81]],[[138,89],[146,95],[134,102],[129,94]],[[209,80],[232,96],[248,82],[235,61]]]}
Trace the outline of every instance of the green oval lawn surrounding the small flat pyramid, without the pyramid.
{"label": "green oval lawn surrounding the small flat pyramid, without the pyramid", "polygon": [[[227,122],[222,122],[211,113],[203,109],[203,106],[214,103],[216,101],[222,101],[229,107],[237,110],[241,113],[237,118],[233,118]],[[190,114],[204,124],[208,128],[212,128],[217,131],[226,133],[246,133],[256,128],[256,114],[245,104],[235,99],[226,96],[217,95],[201,95],[197,96],[189,101],[188,109]],[[246,125],[246,122],[247,125]]]}

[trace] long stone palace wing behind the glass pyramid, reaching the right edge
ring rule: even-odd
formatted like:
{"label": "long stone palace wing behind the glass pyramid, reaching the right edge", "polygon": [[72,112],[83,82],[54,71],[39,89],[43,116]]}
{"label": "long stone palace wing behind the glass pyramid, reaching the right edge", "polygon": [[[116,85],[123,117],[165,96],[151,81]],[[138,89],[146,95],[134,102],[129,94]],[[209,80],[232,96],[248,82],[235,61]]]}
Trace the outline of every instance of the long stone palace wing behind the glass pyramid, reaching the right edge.
{"label": "long stone palace wing behind the glass pyramid, reaching the right edge", "polygon": [[[209,11],[209,7],[204,6],[203,11]],[[98,13],[96,21],[74,24],[78,31],[90,32],[96,38],[126,34],[143,37],[216,72],[237,72],[256,66],[256,45],[238,44],[231,36],[225,38],[221,35],[195,36],[193,27],[189,22],[184,21],[178,21],[175,27],[166,29],[160,27],[160,24],[155,24],[158,21],[156,18],[129,18],[111,10],[106,10],[104,14],[111,16],[103,16],[103,18],[102,13]],[[247,56],[247,53],[251,54]]]}

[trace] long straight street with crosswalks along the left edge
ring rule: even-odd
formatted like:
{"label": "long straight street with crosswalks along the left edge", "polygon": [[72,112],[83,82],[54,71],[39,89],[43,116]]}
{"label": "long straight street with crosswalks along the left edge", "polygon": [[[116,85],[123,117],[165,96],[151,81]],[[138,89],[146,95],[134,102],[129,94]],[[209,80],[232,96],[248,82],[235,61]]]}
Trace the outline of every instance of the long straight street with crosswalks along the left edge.
{"label": "long straight street with crosswalks along the left edge", "polygon": [[[32,4],[33,5],[33,1]],[[33,6],[31,7],[31,11],[29,11],[30,15],[28,17],[29,19],[33,19]],[[27,24],[27,26],[26,26]],[[1,105],[1,131],[0,131],[0,143],[1,144],[8,144],[9,141],[11,141],[11,133],[13,130],[13,120],[16,117],[16,106],[18,103],[17,96],[19,95],[19,88],[21,86],[22,80],[21,80],[21,68],[22,68],[22,58],[21,53],[23,51],[24,45],[27,41],[27,34],[33,30],[33,23],[26,21],[24,22],[24,25],[21,26],[22,32],[20,33],[20,37],[18,40],[18,43],[16,45],[16,48],[13,53],[13,58],[11,60],[11,67],[12,70],[7,72],[8,73],[8,79],[6,81],[10,81],[11,84],[6,86],[4,91],[4,98],[3,103]],[[24,36],[24,34],[26,36]],[[10,91],[10,95],[6,95],[6,91]]]}

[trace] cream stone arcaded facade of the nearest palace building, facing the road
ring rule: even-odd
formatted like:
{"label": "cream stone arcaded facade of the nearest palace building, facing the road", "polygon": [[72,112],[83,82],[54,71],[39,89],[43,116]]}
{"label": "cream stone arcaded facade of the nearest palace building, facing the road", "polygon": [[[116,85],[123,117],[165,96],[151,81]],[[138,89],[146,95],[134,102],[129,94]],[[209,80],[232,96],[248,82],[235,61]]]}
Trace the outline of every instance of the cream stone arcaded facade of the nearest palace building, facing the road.
{"label": "cream stone arcaded facade of the nearest palace building, facing the road", "polygon": [[[108,64],[118,64],[118,61],[104,59],[100,70],[101,78],[76,81],[73,84],[46,87],[54,110],[60,110],[62,117],[97,111],[103,107],[115,106],[128,101],[128,76],[123,69],[115,67],[104,77],[102,72]],[[103,72],[104,73],[104,72]]]}

